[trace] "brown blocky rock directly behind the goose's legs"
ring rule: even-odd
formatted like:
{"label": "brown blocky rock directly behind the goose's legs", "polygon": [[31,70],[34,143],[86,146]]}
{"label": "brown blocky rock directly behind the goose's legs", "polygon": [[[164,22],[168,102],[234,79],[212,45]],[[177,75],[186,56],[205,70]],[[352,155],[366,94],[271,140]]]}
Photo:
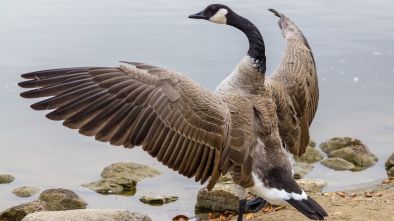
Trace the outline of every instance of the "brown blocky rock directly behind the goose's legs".
{"label": "brown blocky rock directly behind the goose's legs", "polygon": [[[252,193],[248,193],[247,201],[254,199]],[[208,211],[237,211],[239,198],[235,191],[234,183],[227,181],[216,183],[215,187],[208,192],[207,188],[199,190],[195,209]]]}

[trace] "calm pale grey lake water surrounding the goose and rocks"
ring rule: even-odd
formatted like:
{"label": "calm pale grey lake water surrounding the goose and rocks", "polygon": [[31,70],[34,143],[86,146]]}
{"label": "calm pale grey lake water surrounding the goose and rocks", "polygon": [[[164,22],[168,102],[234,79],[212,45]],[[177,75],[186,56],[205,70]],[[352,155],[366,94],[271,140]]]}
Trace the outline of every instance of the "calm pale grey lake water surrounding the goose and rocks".
{"label": "calm pale grey lake water surrounding the goose and rocks", "polygon": [[[394,3],[385,1],[221,1],[261,31],[267,75],[284,48],[278,18],[288,16],[306,35],[315,55],[320,100],[310,128],[319,144],[335,136],[361,139],[379,158],[361,172],[335,172],[316,163],[306,178],[327,182],[324,190],[386,178],[384,162],[394,151]],[[33,111],[17,86],[21,73],[71,66],[117,66],[140,61],[177,70],[206,88],[216,86],[248,50],[240,31],[188,19],[207,1],[9,0],[0,2],[0,174],[16,180],[0,185],[0,211],[37,198],[11,190],[68,188],[88,208],[142,211],[155,220],[194,213],[200,184],[162,166],[134,148],[125,150],[78,135],[61,122]],[[137,184],[134,196],[101,195],[80,185],[100,179],[105,166],[135,162],[162,171]],[[155,191],[176,202],[150,206],[138,201]]]}

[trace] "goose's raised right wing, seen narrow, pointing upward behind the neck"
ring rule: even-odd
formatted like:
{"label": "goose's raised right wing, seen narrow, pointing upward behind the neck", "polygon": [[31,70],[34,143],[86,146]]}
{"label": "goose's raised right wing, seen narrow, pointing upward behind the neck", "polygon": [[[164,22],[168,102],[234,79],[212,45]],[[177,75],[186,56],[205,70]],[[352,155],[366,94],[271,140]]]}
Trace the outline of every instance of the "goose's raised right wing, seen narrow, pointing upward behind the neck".
{"label": "goose's raised right wing, seen narrow, pointing upward behind the neck", "polygon": [[279,133],[290,153],[301,156],[309,142],[309,126],[319,98],[317,73],[311,48],[303,33],[290,19],[280,17],[279,27],[286,45],[283,57],[267,80],[277,105]]}

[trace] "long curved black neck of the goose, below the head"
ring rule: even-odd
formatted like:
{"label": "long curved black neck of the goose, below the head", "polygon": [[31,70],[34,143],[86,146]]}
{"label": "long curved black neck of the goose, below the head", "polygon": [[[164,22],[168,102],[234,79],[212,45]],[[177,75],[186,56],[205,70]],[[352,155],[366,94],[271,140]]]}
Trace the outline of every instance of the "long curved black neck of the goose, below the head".
{"label": "long curved black neck of the goose, below the head", "polygon": [[248,37],[248,55],[254,59],[257,70],[264,74],[267,69],[267,59],[265,57],[263,37],[261,36],[259,29],[257,29],[256,26],[248,19],[245,19],[234,12],[227,14],[226,17],[227,25],[231,25],[241,30]]}

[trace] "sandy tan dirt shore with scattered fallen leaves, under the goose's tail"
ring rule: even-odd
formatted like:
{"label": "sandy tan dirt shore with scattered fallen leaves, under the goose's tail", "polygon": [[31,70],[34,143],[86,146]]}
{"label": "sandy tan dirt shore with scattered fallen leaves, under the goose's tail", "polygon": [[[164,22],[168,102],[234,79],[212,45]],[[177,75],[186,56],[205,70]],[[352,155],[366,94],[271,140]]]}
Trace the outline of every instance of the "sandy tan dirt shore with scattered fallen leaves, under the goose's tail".
{"label": "sandy tan dirt shore with scattered fallen leaves, under the goose's tail", "polygon": [[[366,196],[368,195],[366,192],[369,192],[371,196]],[[323,194],[310,196],[327,211],[329,216],[324,220],[394,220],[394,180],[388,184],[382,184],[379,181],[357,189]],[[243,220],[311,220],[290,206],[269,213],[260,210],[254,216],[246,218],[244,214]],[[236,220],[236,216],[231,220]]]}

